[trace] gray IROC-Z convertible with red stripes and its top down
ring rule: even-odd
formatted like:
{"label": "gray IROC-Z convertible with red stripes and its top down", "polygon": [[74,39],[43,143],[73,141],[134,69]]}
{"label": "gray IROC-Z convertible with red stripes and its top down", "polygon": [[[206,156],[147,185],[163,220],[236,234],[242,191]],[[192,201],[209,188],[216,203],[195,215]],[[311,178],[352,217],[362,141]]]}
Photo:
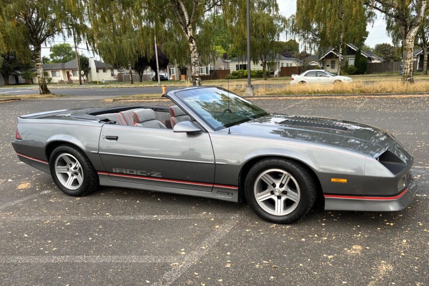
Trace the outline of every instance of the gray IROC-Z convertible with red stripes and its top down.
{"label": "gray IROC-Z convertible with red stripes and its top down", "polygon": [[413,157],[384,130],[272,114],[218,87],[163,97],[171,106],[64,109],[18,117],[19,159],[70,196],[100,185],[230,202],[289,223],[313,207],[400,211],[417,185]]}

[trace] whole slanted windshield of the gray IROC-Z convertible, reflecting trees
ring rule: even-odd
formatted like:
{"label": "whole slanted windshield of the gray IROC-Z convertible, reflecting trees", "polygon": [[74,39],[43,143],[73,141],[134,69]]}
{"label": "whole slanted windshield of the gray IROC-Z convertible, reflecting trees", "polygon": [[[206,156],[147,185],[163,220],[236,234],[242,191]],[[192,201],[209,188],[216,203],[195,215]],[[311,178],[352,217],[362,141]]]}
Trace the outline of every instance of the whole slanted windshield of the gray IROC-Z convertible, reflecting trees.
{"label": "whole slanted windshield of the gray IROC-Z convertible, reflecting trees", "polygon": [[183,90],[175,94],[214,130],[237,125],[268,114],[246,99],[218,87]]}

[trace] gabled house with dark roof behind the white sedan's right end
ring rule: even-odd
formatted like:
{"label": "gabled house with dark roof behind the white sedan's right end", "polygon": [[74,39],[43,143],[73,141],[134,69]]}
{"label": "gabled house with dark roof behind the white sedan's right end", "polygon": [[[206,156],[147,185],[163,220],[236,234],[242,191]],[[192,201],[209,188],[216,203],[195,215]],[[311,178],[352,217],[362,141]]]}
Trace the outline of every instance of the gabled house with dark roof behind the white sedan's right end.
{"label": "gabled house with dark roof behind the white sedan's right end", "polygon": [[[347,44],[347,48],[343,50],[344,59],[341,65],[348,63],[349,66],[354,66],[354,59],[356,57],[356,51],[359,48],[353,44]],[[382,57],[378,57],[371,51],[360,51],[360,54],[368,60],[368,63],[381,63],[384,62]],[[331,72],[338,70],[338,51],[336,48],[329,47],[323,52],[322,57],[319,59],[320,67],[327,69]]]}

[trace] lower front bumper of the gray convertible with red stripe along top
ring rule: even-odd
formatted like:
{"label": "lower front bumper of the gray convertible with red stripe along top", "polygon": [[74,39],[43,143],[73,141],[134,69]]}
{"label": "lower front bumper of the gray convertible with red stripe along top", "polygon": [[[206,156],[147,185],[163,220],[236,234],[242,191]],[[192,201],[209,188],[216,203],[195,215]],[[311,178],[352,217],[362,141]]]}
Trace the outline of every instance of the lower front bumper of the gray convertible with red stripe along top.
{"label": "lower front bumper of the gray convertible with red stripe along top", "polygon": [[405,190],[395,196],[352,197],[325,195],[325,210],[329,211],[402,211],[417,194],[417,184],[411,177]]}

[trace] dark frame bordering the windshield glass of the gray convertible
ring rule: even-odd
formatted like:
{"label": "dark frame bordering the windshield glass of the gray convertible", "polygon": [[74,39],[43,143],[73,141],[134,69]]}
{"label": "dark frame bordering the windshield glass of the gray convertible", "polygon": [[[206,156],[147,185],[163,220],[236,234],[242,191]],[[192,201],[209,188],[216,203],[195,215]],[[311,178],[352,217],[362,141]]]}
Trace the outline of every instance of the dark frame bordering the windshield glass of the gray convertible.
{"label": "dark frame bordering the windshield glass of the gray convertible", "polygon": [[[199,87],[198,89],[204,89],[204,88],[217,88],[217,89],[219,89],[219,90],[223,90],[223,91],[225,91],[225,92],[228,92],[230,95],[234,95],[234,96],[238,96],[239,98],[241,98],[241,99],[244,99],[244,98],[242,98],[241,96],[239,96],[238,94],[236,94],[236,93],[233,93],[233,92],[231,92],[231,91],[229,91],[229,90],[227,90],[227,89],[225,89],[225,88],[223,88],[223,87],[217,87],[217,86],[206,86],[206,87]],[[192,106],[190,106],[184,99],[183,99],[183,96],[181,96],[180,95],[180,93],[181,92],[185,92],[186,91],[186,89],[184,89],[184,90],[176,90],[176,91],[174,91],[173,93],[174,93],[174,95],[177,97],[177,99],[179,99],[180,100],[180,102],[182,103],[182,105],[183,105],[183,108],[185,108],[185,109],[187,109],[187,111],[189,112],[189,113],[193,113],[193,114],[195,114],[196,116],[194,116],[194,118],[195,117],[198,117],[198,119],[199,120],[201,120],[202,121],[202,123],[204,123],[204,125],[206,125],[206,126],[208,126],[211,130],[213,130],[213,131],[218,131],[218,130],[221,130],[221,129],[227,129],[227,128],[229,128],[229,127],[231,127],[231,126],[235,126],[235,125],[239,125],[239,124],[242,124],[242,123],[245,123],[245,122],[247,122],[247,121],[250,121],[250,120],[254,120],[254,119],[257,119],[257,118],[260,118],[260,117],[263,117],[263,116],[266,116],[266,115],[269,115],[269,112],[268,111],[266,111],[265,109],[263,109],[263,108],[260,108],[258,105],[256,105],[256,104],[254,104],[253,102],[250,102],[251,104],[253,104],[253,105],[255,105],[255,106],[257,106],[258,108],[260,108],[263,112],[261,113],[261,114],[257,114],[257,116],[254,116],[254,117],[248,117],[248,118],[243,118],[243,120],[239,120],[239,121],[236,121],[236,122],[233,122],[233,123],[230,123],[230,124],[224,124],[224,125],[221,125],[221,126],[218,126],[218,127],[215,127],[215,126],[213,126],[211,123],[209,123],[207,120],[205,120],[204,119],[204,117],[202,117],[200,114],[199,114],[199,112],[197,112]],[[247,101],[247,102],[249,102],[247,99],[244,99],[245,101]]]}

